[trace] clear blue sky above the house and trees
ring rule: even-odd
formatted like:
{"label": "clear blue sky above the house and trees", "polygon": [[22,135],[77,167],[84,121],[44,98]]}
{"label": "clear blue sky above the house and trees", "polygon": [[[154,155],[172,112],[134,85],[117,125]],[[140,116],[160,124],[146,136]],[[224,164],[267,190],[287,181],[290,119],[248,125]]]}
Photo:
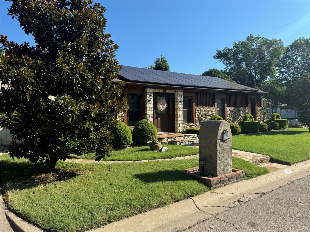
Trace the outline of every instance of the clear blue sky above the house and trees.
{"label": "clear blue sky above the house and trees", "polygon": [[[164,54],[171,71],[191,74],[224,67],[213,59],[215,50],[206,51],[310,16],[310,1],[98,2],[107,9],[106,31],[119,45],[116,55],[120,64],[145,67]],[[10,5],[0,0],[1,34],[10,41],[34,45],[18,21],[7,15]],[[295,38],[309,37],[310,18],[260,35],[288,45]]]}

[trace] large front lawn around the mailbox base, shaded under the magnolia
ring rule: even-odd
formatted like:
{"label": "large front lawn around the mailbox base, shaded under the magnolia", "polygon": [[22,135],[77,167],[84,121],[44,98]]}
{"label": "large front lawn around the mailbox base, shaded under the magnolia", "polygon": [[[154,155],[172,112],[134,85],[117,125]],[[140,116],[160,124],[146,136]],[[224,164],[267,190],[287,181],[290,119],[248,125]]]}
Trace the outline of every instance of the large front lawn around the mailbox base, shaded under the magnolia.
{"label": "large front lawn around the mailbox base, shaded under the magnolia", "polygon": [[[46,231],[103,227],[210,190],[179,172],[197,166],[197,158],[130,164],[59,161],[48,174],[25,159],[1,155],[0,160],[7,206]],[[234,157],[233,167],[249,177],[268,172]]]}

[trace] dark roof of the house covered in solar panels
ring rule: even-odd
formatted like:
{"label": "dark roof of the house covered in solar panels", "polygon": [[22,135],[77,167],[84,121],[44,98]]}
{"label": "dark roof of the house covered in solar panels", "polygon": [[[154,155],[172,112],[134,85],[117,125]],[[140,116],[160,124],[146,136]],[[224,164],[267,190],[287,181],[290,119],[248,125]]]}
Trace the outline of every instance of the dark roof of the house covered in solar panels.
{"label": "dark roof of the house covered in solar panels", "polygon": [[189,88],[223,89],[267,94],[267,92],[236,84],[218,77],[168,72],[124,65],[122,65],[122,69],[118,72],[118,78],[128,83],[147,83],[165,86],[173,85]]}

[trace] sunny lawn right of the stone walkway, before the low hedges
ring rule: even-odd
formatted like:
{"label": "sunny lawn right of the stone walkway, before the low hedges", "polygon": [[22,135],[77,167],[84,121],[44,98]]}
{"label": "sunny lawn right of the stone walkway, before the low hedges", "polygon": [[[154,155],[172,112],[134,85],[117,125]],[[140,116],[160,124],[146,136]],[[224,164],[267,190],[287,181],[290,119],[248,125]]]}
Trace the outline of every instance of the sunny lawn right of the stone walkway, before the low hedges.
{"label": "sunny lawn right of the stone walkway, before the low hedges", "polygon": [[232,148],[271,157],[271,161],[292,165],[310,159],[308,128],[266,131],[232,137]]}

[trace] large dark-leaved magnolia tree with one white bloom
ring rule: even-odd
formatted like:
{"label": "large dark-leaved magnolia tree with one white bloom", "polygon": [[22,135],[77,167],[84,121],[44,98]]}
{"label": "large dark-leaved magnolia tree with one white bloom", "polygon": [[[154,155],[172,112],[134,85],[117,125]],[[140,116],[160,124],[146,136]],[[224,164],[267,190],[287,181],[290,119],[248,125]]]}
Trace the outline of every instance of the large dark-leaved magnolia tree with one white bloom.
{"label": "large dark-leaved magnolia tree with one white bloom", "polygon": [[52,169],[70,153],[94,152],[96,161],[110,153],[108,128],[127,103],[125,83],[113,82],[118,46],[104,33],[104,11],[91,0],[12,1],[9,15],[37,45],[1,35],[1,127],[13,134],[11,157]]}

